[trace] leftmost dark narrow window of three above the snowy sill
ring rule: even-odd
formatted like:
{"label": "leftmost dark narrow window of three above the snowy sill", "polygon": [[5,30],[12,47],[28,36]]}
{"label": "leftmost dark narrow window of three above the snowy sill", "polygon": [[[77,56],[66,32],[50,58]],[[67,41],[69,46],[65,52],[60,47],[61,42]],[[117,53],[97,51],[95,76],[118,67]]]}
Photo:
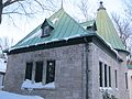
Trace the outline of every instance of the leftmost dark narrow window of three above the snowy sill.
{"label": "leftmost dark narrow window of three above the snowy sill", "polygon": [[33,63],[26,63],[25,79],[32,79]]}

